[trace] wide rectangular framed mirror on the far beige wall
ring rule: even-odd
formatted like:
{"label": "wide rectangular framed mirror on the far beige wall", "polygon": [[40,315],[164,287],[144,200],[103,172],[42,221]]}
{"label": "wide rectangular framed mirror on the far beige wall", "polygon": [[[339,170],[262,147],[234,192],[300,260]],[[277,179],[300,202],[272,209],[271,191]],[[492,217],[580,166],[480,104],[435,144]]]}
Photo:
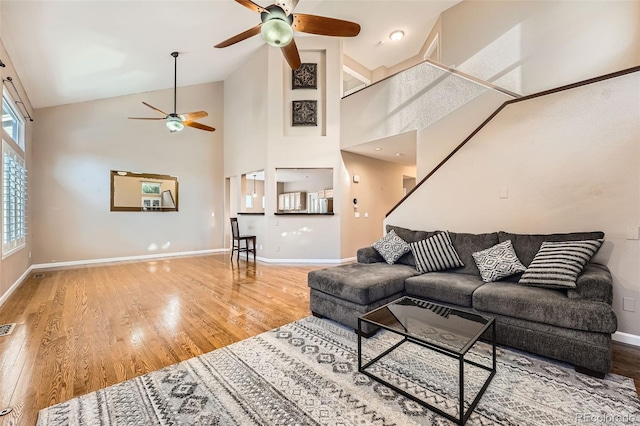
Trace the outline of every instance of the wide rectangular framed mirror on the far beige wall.
{"label": "wide rectangular framed mirror on the far beige wall", "polygon": [[112,212],[177,212],[178,177],[111,170]]}

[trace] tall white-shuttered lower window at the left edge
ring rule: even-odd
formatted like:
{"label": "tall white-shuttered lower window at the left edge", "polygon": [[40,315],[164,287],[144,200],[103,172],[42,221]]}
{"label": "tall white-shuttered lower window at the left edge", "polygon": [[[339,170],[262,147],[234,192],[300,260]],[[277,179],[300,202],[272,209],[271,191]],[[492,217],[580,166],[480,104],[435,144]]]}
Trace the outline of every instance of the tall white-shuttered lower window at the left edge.
{"label": "tall white-shuttered lower window at the left edge", "polygon": [[2,254],[6,256],[26,245],[27,169],[24,159],[5,141],[2,141],[2,158]]}

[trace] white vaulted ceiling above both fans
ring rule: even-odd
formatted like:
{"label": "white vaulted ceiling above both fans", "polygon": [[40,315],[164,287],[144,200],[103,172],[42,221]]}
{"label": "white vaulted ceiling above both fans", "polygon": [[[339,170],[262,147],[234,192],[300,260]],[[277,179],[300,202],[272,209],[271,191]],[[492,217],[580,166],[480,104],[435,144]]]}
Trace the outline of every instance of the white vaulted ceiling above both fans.
{"label": "white vaulted ceiling above both fans", "polygon": [[[458,2],[301,0],[295,12],[358,22],[361,33],[344,39],[344,53],[375,69],[416,55],[440,13]],[[35,108],[170,88],[172,51],[180,52],[178,86],[221,81],[263,44],[255,36],[213,47],[260,22],[233,0],[3,0],[0,18],[0,38]],[[395,29],[406,34],[400,43],[388,38]]]}

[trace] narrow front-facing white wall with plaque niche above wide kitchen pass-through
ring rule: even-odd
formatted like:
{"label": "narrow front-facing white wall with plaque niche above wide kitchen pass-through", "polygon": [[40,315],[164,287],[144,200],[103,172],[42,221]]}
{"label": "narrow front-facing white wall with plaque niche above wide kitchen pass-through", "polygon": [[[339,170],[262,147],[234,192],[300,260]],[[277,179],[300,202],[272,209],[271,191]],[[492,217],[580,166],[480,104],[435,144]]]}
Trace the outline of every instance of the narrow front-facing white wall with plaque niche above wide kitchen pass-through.
{"label": "narrow front-facing white wall with plaque niche above wide kitchen pass-through", "polygon": [[[332,168],[334,170],[334,211],[339,211],[342,158],[340,156],[340,97],[342,93],[342,45],[334,37],[298,37],[302,62],[324,64],[318,90],[308,99],[322,99],[323,122],[317,128],[288,127],[290,99],[304,99],[291,90],[291,68],[279,49],[269,49],[269,172],[276,168]],[[267,226],[272,259],[340,259],[340,219],[334,216],[273,216],[277,209],[275,183],[267,186]]]}

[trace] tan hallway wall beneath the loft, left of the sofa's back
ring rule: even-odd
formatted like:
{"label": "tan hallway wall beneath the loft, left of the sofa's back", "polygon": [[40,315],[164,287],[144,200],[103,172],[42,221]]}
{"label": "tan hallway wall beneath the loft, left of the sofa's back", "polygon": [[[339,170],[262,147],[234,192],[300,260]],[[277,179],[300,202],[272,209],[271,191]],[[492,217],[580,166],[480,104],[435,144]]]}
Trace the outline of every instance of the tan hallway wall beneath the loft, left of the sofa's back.
{"label": "tan hallway wall beneath the loft, left of the sofa's back", "polygon": [[[342,158],[346,178],[342,181],[341,252],[343,259],[349,259],[356,257],[359,248],[382,237],[385,215],[402,199],[407,168],[346,151],[342,152]],[[353,175],[360,177],[358,183],[353,182]],[[358,200],[357,208],[353,205],[354,198]]]}

